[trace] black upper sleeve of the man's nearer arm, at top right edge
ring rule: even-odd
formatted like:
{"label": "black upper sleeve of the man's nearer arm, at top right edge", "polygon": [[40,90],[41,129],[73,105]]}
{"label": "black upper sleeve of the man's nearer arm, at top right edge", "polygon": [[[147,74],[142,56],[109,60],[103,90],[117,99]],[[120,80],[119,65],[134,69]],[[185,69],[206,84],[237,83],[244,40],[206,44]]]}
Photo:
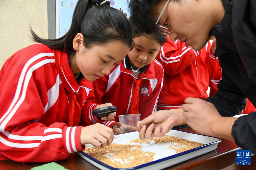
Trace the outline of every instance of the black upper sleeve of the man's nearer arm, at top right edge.
{"label": "black upper sleeve of the man's nearer arm, at top right edge", "polygon": [[244,63],[249,79],[256,84],[256,1],[234,0],[232,30],[238,53]]}

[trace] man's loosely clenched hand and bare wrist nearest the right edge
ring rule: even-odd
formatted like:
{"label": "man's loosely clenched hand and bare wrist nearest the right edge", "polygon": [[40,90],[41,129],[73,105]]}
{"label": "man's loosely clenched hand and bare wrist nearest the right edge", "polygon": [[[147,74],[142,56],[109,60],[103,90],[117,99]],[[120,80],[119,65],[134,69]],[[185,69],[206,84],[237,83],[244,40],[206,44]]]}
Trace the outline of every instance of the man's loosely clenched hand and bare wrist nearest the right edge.
{"label": "man's loosely clenched hand and bare wrist nearest the right edge", "polygon": [[222,117],[212,103],[198,98],[186,98],[183,116],[186,123],[197,132],[233,140],[231,130],[237,118]]}

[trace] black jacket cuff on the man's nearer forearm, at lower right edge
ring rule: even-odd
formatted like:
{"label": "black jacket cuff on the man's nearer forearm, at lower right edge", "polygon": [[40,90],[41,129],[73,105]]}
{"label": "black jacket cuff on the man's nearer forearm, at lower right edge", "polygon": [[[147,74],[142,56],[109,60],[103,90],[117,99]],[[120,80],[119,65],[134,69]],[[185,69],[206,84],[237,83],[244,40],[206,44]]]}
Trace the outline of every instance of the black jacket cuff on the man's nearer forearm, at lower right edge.
{"label": "black jacket cuff on the man's nearer forearm, at lower right edge", "polygon": [[256,112],[239,117],[232,127],[231,135],[240,148],[256,154]]}

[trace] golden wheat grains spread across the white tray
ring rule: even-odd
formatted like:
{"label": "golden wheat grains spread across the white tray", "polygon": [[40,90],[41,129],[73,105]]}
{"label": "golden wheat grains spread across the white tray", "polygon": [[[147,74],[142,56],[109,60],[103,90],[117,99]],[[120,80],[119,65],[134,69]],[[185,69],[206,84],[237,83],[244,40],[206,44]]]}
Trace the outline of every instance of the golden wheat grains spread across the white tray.
{"label": "golden wheat grains spread across the white tray", "polygon": [[[150,140],[135,139],[129,143],[149,144],[151,142],[153,143],[153,141],[159,145],[162,143],[171,143],[168,148],[175,150],[176,153],[204,145],[203,143],[169,135],[165,135],[161,138],[154,137]],[[114,168],[131,168],[153,161],[155,153],[142,151],[142,147],[143,146],[141,145],[132,145],[128,143],[126,143],[126,145],[113,143],[105,148],[92,147],[85,149],[83,152]]]}

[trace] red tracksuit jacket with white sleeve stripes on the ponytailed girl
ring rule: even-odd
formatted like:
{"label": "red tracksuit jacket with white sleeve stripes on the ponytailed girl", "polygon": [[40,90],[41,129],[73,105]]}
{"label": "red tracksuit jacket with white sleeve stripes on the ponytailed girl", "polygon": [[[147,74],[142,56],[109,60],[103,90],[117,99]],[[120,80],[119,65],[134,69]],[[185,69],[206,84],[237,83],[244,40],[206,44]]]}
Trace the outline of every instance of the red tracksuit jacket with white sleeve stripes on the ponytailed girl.
{"label": "red tracksuit jacket with white sleeve stripes on the ponytailed girl", "polygon": [[79,122],[95,107],[85,103],[92,88],[77,83],[66,53],[43,44],[17,51],[0,71],[0,160],[50,162],[82,151]]}

